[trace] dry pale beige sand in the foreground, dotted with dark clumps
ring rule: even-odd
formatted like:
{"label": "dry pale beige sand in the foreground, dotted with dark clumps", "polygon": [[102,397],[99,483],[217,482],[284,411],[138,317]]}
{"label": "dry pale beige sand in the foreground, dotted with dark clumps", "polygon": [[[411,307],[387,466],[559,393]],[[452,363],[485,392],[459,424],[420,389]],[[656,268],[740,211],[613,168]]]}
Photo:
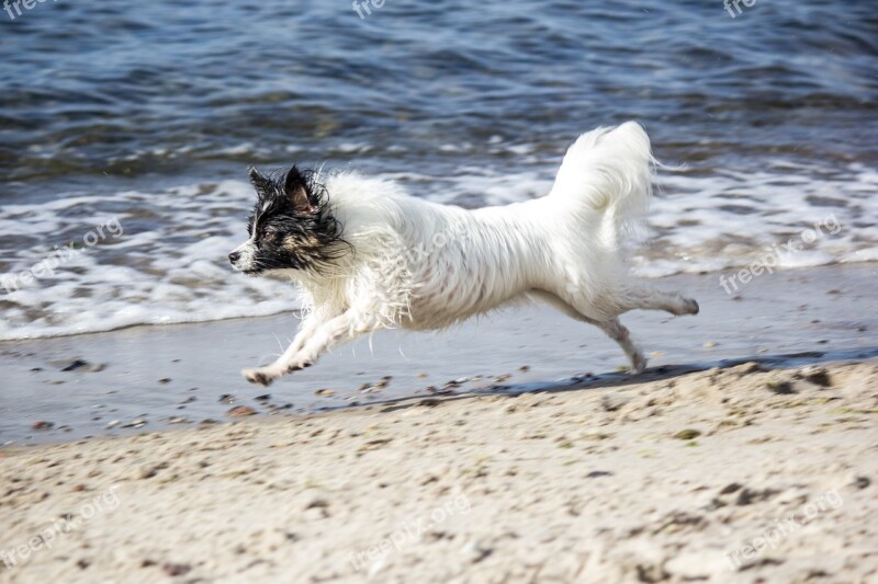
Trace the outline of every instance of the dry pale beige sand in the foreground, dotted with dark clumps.
{"label": "dry pale beige sand in the foreground, dotted with dark clumps", "polygon": [[8,449],[0,581],[878,582],[877,414],[751,363]]}

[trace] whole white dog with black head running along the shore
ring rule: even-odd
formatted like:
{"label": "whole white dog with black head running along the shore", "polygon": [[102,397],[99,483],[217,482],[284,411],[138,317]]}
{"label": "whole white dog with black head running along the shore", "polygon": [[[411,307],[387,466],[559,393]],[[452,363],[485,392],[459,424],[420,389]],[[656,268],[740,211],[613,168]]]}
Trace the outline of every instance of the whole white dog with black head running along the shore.
{"label": "whole white dog with black head running along the shore", "polygon": [[638,124],[598,128],[567,150],[547,196],[473,210],[352,173],[250,169],[259,196],[250,238],[229,260],[245,274],[299,282],[309,310],[284,354],[244,376],[269,385],[359,335],[441,329],[527,298],[598,327],[642,371],[646,360],[617,317],[698,313],[695,300],[628,273],[626,242],[641,231],[653,164]]}

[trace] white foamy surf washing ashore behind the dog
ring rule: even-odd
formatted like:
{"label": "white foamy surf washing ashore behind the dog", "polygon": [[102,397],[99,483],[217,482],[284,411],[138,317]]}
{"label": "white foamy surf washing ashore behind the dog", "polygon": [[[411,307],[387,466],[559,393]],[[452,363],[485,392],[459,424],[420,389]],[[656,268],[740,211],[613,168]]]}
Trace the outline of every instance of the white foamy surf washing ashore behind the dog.
{"label": "white foamy surf washing ashore behind the dog", "polygon": [[[552,169],[500,174],[468,167],[442,180],[413,173],[387,178],[416,196],[472,207],[540,196],[551,187],[551,174]],[[650,215],[654,238],[634,257],[644,276],[745,266],[830,215],[841,224],[838,232],[781,255],[780,266],[878,261],[875,169],[854,164],[829,172],[776,161],[754,173],[662,173],[660,186]],[[0,259],[7,275],[29,270],[55,245],[81,241],[110,217],[124,227],[124,234],[86,249],[54,274],[11,293],[0,287],[0,340],[295,309],[297,293],[290,283],[248,278],[228,267],[226,254],[246,237],[251,196],[246,183],[225,181],[0,207],[0,233],[14,242]],[[291,330],[294,324],[291,320]]]}

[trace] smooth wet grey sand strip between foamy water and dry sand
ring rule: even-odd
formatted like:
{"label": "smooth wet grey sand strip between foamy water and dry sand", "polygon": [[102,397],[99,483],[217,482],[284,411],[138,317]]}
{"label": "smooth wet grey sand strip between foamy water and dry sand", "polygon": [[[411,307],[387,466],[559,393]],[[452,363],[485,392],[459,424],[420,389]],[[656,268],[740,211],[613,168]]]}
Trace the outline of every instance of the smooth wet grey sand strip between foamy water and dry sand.
{"label": "smooth wet grey sand strip between foamy water and dry sand", "polygon": [[[691,294],[701,314],[635,311],[622,322],[650,367],[680,373],[733,359],[869,358],[878,355],[878,311],[869,310],[876,275],[878,264],[786,271],[754,279],[738,296],[725,295],[718,274],[662,278],[656,286]],[[0,343],[8,388],[0,398],[0,445],[225,422],[234,420],[234,408],[301,415],[412,396],[515,393],[628,377],[618,373],[626,359],[615,343],[542,306],[506,309],[442,333],[385,331],[267,389],[239,377],[243,367],[280,352],[297,322],[284,313]],[[804,355],[797,360],[793,354]],[[35,430],[40,422],[45,427]]]}

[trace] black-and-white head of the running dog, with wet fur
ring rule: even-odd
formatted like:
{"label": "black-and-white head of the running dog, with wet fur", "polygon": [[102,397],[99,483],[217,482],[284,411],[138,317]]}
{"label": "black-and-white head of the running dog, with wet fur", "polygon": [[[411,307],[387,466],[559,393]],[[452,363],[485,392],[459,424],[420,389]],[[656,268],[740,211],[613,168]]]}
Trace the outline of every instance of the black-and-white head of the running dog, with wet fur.
{"label": "black-and-white head of the running dog, with wet fur", "polygon": [[228,254],[235,270],[248,275],[319,273],[348,251],[314,171],[294,165],[285,174],[249,172],[257,202],[247,221],[249,239]]}

